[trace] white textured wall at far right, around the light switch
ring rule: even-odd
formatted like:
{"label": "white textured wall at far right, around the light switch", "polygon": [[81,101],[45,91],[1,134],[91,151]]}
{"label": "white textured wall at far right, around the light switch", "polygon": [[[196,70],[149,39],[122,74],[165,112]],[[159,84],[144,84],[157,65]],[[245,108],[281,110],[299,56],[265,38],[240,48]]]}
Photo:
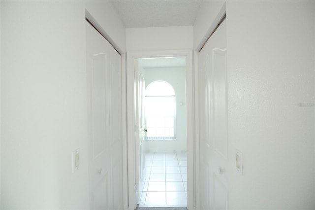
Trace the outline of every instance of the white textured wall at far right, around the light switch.
{"label": "white textured wall at far right, around the light switch", "polygon": [[315,209],[315,2],[227,1],[226,10],[229,208]]}

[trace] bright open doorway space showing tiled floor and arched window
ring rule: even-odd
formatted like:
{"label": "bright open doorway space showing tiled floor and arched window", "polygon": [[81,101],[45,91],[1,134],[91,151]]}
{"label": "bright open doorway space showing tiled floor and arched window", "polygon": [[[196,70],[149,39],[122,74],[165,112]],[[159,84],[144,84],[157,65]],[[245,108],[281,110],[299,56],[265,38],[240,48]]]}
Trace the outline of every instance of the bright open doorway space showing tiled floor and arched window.
{"label": "bright open doorway space showing tiled floor and arched window", "polygon": [[186,57],[134,62],[145,84],[146,174],[139,206],[187,207]]}

